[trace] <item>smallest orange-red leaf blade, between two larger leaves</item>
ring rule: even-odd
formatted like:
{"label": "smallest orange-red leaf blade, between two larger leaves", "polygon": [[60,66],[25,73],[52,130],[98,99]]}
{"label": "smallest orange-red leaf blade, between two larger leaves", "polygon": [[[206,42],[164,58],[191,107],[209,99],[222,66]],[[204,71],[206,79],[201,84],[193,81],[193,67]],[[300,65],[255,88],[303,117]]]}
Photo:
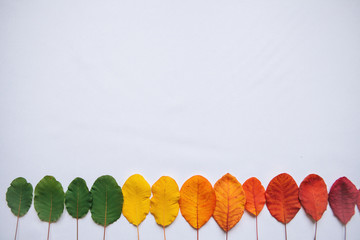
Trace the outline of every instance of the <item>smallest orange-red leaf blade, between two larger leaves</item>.
{"label": "smallest orange-red leaf blade, between two larger leaves", "polygon": [[243,188],[246,194],[245,209],[255,216],[258,216],[266,202],[265,188],[261,185],[259,179],[255,177],[246,180]]}

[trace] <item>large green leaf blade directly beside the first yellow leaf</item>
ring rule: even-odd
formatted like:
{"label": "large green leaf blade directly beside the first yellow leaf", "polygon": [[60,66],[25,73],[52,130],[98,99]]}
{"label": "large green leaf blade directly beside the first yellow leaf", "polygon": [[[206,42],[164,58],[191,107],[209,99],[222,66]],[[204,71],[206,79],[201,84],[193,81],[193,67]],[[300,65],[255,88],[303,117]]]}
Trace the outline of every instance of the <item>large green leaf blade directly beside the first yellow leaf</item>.
{"label": "large green leaf blade directly beside the first yellow leaf", "polygon": [[93,198],[91,218],[104,227],[120,218],[123,205],[123,194],[116,180],[109,175],[96,179],[91,187]]}

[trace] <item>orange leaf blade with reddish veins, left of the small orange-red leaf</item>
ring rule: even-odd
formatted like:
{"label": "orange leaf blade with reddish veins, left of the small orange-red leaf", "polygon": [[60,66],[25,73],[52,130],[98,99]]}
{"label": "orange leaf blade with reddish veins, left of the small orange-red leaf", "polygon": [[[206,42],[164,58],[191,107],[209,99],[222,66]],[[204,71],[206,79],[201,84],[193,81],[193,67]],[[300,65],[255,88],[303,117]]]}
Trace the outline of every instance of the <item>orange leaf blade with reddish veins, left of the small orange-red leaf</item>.
{"label": "orange leaf blade with reddish veins, left of the small orange-red leaf", "polygon": [[213,214],[219,226],[228,232],[241,219],[245,208],[245,192],[241,183],[227,173],[214,185],[216,207]]}

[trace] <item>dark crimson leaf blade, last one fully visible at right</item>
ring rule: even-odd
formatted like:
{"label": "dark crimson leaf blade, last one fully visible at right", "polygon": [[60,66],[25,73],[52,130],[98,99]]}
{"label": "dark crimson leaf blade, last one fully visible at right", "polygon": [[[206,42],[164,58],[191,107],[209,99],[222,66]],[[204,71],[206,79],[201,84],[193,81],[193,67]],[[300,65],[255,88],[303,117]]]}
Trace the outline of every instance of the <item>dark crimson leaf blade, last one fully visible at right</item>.
{"label": "dark crimson leaf blade, last one fully visible at right", "polygon": [[355,214],[358,190],[346,177],[341,177],[332,185],[329,193],[329,204],[334,215],[346,225]]}

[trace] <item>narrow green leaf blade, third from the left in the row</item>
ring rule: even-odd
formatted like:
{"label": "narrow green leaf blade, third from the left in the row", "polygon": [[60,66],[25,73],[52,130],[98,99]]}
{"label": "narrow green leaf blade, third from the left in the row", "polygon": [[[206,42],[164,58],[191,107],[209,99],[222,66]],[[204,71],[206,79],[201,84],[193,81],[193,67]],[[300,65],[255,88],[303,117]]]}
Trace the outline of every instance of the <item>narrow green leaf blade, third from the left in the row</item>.
{"label": "narrow green leaf blade, third from the left in the row", "polygon": [[82,178],[75,178],[65,194],[66,210],[73,218],[84,217],[91,207],[91,193]]}

